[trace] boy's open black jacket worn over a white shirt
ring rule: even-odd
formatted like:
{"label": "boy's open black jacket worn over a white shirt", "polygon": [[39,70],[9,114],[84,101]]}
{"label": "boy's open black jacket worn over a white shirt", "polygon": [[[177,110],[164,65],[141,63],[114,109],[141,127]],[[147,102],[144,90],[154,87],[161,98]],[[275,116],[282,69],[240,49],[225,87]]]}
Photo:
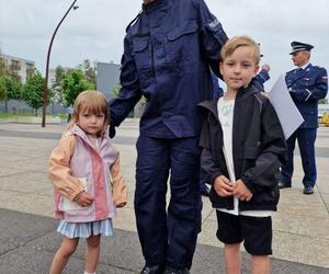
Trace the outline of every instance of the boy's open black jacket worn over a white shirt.
{"label": "boy's open black jacket worn over a white shirt", "polygon": [[[204,123],[200,145],[201,164],[207,180],[229,178],[223,152],[223,130],[217,101],[200,104]],[[240,89],[235,101],[232,122],[232,158],[236,179],[241,179],[253,194],[239,202],[240,210],[275,210],[279,201],[279,168],[285,162],[286,145],[281,124],[270,101],[258,90]],[[212,187],[211,201],[216,208],[234,208],[234,198],[219,197]]]}

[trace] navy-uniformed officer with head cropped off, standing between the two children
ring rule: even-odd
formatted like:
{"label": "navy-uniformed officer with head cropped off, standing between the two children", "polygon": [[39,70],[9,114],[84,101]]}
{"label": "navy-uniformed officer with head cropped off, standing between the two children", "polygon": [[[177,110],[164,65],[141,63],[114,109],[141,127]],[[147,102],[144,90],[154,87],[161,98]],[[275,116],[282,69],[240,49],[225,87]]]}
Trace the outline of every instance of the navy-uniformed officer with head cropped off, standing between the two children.
{"label": "navy-uniformed officer with head cropped off, standing between the two children", "polygon": [[218,73],[227,35],[204,0],[144,0],[126,31],[110,136],[144,95],[134,201],[141,273],[190,273],[201,230],[196,105],[213,96],[209,66]]}

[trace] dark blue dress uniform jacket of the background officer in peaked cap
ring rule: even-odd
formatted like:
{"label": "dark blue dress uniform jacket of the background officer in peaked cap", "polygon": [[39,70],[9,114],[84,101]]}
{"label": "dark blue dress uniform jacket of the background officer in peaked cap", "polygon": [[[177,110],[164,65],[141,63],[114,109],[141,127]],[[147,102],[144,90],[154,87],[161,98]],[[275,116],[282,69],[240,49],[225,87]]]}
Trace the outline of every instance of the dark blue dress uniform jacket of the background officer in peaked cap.
{"label": "dark blue dress uniform jacket of the background officer in peaked cap", "polygon": [[317,128],[318,100],[326,98],[328,92],[327,70],[309,64],[305,69],[288,71],[285,82],[305,121],[300,128]]}

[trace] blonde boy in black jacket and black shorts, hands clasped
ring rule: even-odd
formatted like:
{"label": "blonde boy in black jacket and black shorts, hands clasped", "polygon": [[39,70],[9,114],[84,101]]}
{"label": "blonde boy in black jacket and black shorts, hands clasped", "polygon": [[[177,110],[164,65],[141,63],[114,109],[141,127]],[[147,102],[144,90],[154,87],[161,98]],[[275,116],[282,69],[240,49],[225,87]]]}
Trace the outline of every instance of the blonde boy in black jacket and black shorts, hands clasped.
{"label": "blonde boy in black jacket and black shorts, hands clasped", "polygon": [[212,183],[217,238],[224,242],[226,273],[241,273],[240,243],[251,254],[251,272],[270,273],[272,212],[279,202],[285,138],[270,101],[252,87],[260,52],[248,36],[220,50],[227,91],[200,105],[206,116],[201,135],[202,168]]}

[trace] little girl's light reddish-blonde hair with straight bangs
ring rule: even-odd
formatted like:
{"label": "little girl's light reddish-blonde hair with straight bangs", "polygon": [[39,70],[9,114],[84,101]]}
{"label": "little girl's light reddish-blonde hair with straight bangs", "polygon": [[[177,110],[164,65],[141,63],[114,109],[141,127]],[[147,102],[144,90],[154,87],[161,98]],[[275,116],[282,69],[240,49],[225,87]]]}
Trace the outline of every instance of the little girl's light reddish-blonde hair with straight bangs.
{"label": "little girl's light reddish-blonde hair with straight bangs", "polygon": [[80,113],[95,115],[100,113],[104,114],[104,126],[101,129],[100,135],[102,135],[106,130],[110,123],[110,110],[107,100],[102,92],[97,90],[86,90],[77,96],[73,104],[73,114],[66,132],[79,122]]}

